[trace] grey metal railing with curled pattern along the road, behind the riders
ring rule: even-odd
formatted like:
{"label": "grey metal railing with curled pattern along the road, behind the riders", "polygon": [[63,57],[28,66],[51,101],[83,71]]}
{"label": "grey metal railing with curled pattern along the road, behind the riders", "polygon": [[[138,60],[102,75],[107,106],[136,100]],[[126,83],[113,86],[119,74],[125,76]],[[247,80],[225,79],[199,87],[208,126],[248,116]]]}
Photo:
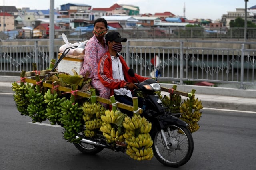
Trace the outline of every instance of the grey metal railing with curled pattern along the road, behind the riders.
{"label": "grey metal railing with curled pattern along the road, behind the riders", "polygon": [[[48,45],[6,45],[0,51],[0,73],[20,73],[22,70],[32,71],[32,63],[37,63],[38,70],[47,69],[49,65]],[[126,42],[121,54],[129,67],[136,73],[153,76],[156,70],[161,71],[161,79],[166,81],[208,81],[212,83],[237,83],[256,85],[256,42],[228,42],[206,40],[172,40],[179,45],[164,46],[132,46],[130,42],[149,42],[152,40],[132,39]],[[154,40],[154,42],[170,40]],[[186,46],[186,43],[195,44]],[[197,47],[197,43],[236,44],[239,48]],[[221,46],[221,45],[220,45]],[[60,45],[54,45],[58,51]],[[54,54],[58,60],[58,52]],[[154,57],[158,56],[155,60]]]}

